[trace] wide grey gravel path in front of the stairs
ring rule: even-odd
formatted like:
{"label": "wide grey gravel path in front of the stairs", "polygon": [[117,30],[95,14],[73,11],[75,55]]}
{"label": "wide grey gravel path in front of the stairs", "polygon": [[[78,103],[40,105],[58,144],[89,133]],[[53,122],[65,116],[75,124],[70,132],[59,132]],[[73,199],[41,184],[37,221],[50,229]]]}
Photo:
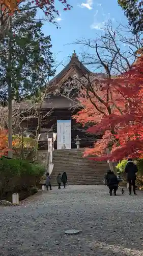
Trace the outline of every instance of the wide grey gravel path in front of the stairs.
{"label": "wide grey gravel path in front of the stairs", "polygon": [[[105,186],[69,186],[0,207],[0,255],[143,255],[143,194],[110,197]],[[66,235],[67,229],[82,229]]]}

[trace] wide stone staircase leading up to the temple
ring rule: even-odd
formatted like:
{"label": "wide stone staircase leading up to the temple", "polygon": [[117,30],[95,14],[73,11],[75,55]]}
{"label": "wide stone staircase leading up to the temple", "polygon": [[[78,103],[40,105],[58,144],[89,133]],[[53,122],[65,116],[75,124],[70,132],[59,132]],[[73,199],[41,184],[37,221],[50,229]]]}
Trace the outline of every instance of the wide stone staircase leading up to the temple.
{"label": "wide stone staircase leading up to the temple", "polygon": [[51,184],[57,185],[56,177],[59,173],[67,173],[69,185],[103,184],[104,175],[109,168],[107,162],[96,162],[83,158],[84,149],[54,150],[51,174]]}

